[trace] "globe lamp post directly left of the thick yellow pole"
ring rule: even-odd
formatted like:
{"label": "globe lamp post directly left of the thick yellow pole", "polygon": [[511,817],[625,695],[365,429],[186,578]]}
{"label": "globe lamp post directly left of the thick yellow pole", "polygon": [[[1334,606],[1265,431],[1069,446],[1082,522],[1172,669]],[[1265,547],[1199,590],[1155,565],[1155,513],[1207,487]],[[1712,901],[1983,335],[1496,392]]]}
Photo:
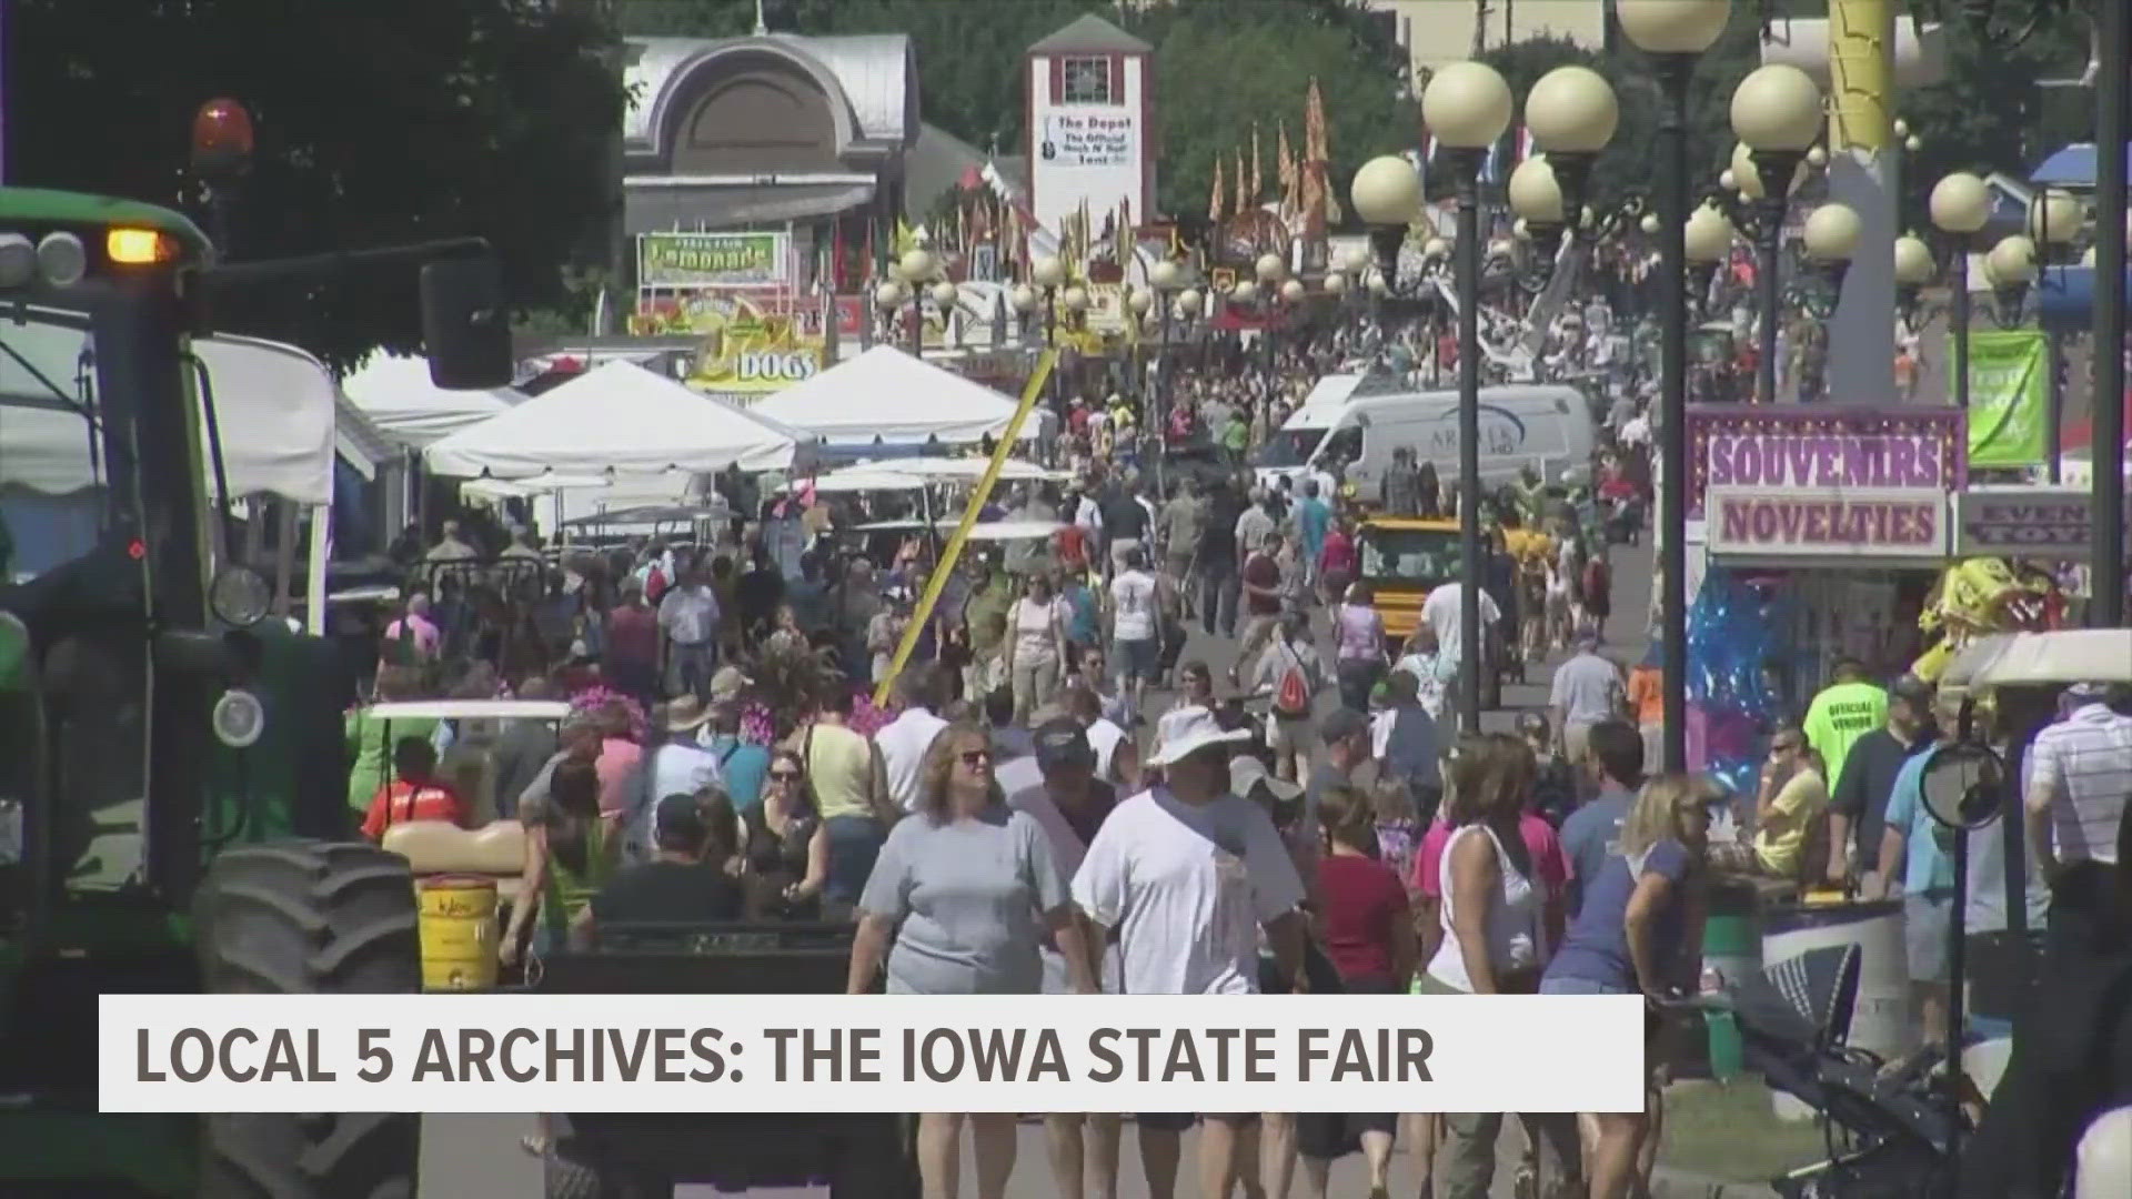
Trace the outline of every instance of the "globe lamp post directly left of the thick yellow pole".
{"label": "globe lamp post directly left of the thick yellow pole", "polygon": [[1814,79],[1782,62],[1755,68],[1733,90],[1731,126],[1746,147],[1753,171],[1733,162],[1740,194],[1757,201],[1761,275],[1761,361],[1755,390],[1763,403],[1776,401],[1776,322],[1782,290],[1778,288],[1780,250],[1784,245],[1784,198],[1799,183],[1806,151],[1821,137],[1821,87]]}

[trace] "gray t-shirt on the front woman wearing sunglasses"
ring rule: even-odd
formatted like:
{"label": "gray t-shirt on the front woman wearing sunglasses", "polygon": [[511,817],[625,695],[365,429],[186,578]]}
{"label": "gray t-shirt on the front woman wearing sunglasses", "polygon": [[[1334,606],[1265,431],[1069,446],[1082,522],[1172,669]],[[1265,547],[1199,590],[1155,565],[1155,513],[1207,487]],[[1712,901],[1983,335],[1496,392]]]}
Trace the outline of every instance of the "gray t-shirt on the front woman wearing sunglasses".
{"label": "gray t-shirt on the front woman wearing sunglasses", "polygon": [[859,911],[900,922],[889,994],[1036,994],[1043,913],[1066,902],[1043,828],[994,806],[949,824],[898,821]]}

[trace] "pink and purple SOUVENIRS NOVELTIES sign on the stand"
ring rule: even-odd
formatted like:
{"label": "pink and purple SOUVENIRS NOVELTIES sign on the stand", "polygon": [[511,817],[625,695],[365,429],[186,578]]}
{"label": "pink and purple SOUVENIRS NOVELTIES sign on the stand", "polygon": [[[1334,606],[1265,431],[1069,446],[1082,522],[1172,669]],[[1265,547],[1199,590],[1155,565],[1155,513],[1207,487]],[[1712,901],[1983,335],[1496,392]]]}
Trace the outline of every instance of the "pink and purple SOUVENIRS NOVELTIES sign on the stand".
{"label": "pink and purple SOUVENIRS NOVELTIES sign on the stand", "polygon": [[1966,482],[1953,407],[1689,410],[1689,516],[1742,557],[1938,559]]}

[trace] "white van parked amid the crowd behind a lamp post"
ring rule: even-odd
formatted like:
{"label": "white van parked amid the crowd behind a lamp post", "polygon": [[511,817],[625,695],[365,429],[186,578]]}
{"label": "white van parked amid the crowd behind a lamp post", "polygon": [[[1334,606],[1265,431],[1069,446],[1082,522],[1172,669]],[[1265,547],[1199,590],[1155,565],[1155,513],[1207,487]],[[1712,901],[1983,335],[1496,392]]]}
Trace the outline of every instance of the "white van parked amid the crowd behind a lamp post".
{"label": "white van parked amid the crowd behind a lamp post", "polygon": [[[1480,390],[1480,478],[1486,486],[1514,482],[1524,467],[1548,482],[1588,482],[1597,437],[1584,393],[1563,384],[1507,384]],[[1396,390],[1369,395],[1354,388],[1343,401],[1307,403],[1258,452],[1260,486],[1290,478],[1303,486],[1318,478],[1345,478],[1364,501],[1375,501],[1392,450],[1414,446],[1435,463],[1437,478],[1458,476],[1458,393]],[[1341,471],[1345,463],[1345,471]]]}

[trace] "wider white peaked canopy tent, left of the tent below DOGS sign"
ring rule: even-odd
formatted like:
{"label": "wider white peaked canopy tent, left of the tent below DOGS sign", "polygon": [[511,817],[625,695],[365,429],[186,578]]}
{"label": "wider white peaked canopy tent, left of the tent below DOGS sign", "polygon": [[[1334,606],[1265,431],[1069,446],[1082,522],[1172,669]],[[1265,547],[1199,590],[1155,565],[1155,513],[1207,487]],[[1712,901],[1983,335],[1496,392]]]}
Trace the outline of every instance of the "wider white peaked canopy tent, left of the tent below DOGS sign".
{"label": "wider white peaked canopy tent, left of the tent below DOGS sign", "polygon": [[789,469],[806,433],[646,371],[605,363],[510,412],[433,442],[429,469],[524,478],[546,471],[657,476]]}

